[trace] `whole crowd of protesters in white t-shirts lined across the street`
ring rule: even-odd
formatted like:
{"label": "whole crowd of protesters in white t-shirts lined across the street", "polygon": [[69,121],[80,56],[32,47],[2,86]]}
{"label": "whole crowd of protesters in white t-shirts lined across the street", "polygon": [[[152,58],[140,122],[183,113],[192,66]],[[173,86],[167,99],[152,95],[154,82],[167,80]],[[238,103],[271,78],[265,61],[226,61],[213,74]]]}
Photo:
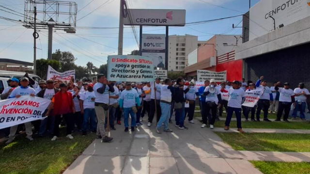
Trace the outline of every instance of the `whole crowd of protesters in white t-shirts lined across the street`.
{"label": "whole crowd of protesters in white t-shirts lined across the street", "polygon": [[[124,124],[125,132],[133,132],[142,124],[147,124],[148,127],[155,124],[158,134],[162,131],[172,132],[171,125],[186,130],[186,124],[195,124],[196,106],[200,107],[202,128],[208,125],[214,128],[225,109],[227,117],[224,129],[229,130],[235,113],[238,131],[243,133],[242,113],[246,121],[270,122],[268,113],[274,112],[277,113],[275,121],[282,118],[289,122],[292,110],[292,119],[297,119],[299,112],[300,118],[305,120],[307,97],[310,96],[304,83],[299,83],[294,90],[290,89],[288,82],[283,85],[275,82],[268,87],[263,76],[256,82],[242,79],[217,83],[215,79],[210,79],[205,80],[204,85],[199,88],[195,86],[195,80],[186,81],[183,78],[115,82],[108,81],[102,74],[97,76],[96,81],[73,78],[66,82],[56,79],[40,80],[35,88],[34,80],[26,74],[21,79],[10,79],[9,84],[10,87],[1,94],[2,100],[21,95],[51,100],[43,114],[45,119],[22,124],[26,138],[30,141],[33,137],[45,136],[56,141],[60,137],[60,126],[64,125],[69,139],[74,138],[73,132],[79,132],[82,136],[93,132],[102,142],[112,141],[113,138],[108,136],[106,130],[116,130],[115,124]],[[260,118],[261,112],[263,120]],[[172,115],[175,116],[174,123],[171,121]],[[8,137],[6,143],[14,141],[20,127],[16,125],[0,130]]]}

